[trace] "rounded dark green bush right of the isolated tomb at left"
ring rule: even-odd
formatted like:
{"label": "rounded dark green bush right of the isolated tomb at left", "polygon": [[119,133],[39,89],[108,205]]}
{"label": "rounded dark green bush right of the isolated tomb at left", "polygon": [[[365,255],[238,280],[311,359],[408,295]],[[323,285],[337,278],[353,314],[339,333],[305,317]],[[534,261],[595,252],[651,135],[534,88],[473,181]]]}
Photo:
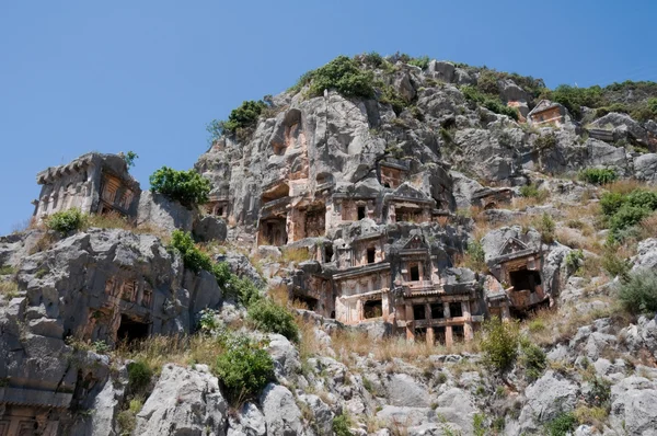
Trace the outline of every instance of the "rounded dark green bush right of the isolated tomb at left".
{"label": "rounded dark green bush right of the isolated tomb at left", "polygon": [[208,202],[210,181],[194,170],[176,171],[162,167],[150,179],[151,191],[158,192],[170,199],[192,207],[193,204],[203,205]]}

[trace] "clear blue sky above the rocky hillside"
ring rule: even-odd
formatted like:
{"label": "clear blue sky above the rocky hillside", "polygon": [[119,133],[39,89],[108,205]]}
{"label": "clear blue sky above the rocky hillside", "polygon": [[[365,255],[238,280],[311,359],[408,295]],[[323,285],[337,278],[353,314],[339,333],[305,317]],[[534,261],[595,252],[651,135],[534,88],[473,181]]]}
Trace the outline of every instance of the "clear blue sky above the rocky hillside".
{"label": "clear blue sky above the rocky hillside", "polygon": [[0,234],[35,175],[134,150],[148,188],[191,168],[205,125],[339,54],[396,50],[560,83],[657,81],[657,2],[0,0]]}

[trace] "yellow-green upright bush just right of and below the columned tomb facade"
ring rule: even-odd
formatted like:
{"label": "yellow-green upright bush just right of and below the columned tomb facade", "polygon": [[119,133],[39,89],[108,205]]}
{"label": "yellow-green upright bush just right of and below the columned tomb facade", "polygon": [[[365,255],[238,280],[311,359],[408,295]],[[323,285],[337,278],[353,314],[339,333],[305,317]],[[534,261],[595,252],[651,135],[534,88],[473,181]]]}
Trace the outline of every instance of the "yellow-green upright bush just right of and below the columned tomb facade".
{"label": "yellow-green upright bush just right of and below the columned tomb facade", "polygon": [[520,332],[516,322],[504,322],[494,317],[484,322],[481,347],[486,364],[499,372],[511,368],[518,357]]}

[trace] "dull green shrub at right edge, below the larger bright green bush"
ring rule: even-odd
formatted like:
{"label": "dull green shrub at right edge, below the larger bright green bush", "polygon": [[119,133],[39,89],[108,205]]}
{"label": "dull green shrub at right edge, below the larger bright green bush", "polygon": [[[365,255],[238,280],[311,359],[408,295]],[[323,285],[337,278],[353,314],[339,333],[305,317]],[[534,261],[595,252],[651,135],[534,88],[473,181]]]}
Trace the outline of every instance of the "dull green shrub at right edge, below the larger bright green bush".
{"label": "dull green shrub at right edge, below the larger bright green bush", "polygon": [[647,269],[629,273],[619,286],[619,299],[632,313],[655,313],[657,273]]}

